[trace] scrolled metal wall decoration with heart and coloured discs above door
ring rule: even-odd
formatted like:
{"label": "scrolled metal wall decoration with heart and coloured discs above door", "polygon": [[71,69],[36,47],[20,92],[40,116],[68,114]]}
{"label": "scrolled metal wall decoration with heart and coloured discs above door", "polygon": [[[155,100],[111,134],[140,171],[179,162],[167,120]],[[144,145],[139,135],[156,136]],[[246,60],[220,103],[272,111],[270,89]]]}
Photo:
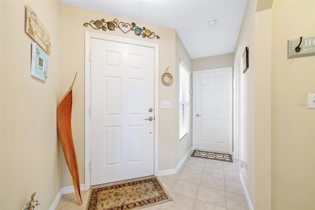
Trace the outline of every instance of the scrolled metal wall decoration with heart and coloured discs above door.
{"label": "scrolled metal wall decoration with heart and coloured discs above door", "polygon": [[[143,27],[142,29],[137,27],[135,23],[123,23],[123,22],[119,22],[118,23],[118,19],[114,19],[114,21],[109,21],[109,22],[105,22],[105,19],[101,19],[101,20],[91,20],[90,23],[85,23],[83,24],[85,27],[88,27],[88,25],[90,25],[92,28],[94,29],[102,29],[103,31],[107,31],[107,29],[109,31],[114,31],[115,28],[120,29],[122,32],[124,32],[124,34],[130,32],[130,31],[134,31],[135,35],[141,35],[143,38],[148,37],[148,38],[154,38],[157,37],[159,38],[158,35],[156,35],[154,32],[151,32],[150,30],[146,29],[145,27]],[[106,27],[107,26],[107,27]]]}

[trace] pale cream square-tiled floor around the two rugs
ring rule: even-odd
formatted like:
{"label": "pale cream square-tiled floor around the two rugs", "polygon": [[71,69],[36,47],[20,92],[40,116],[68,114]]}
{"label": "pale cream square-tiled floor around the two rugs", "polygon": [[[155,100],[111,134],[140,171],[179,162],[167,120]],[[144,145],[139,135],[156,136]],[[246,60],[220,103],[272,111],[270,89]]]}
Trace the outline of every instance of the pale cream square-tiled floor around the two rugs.
{"label": "pale cream square-tiled floor around the two rugs", "polygon": [[[159,176],[173,201],[145,210],[248,210],[248,203],[234,163],[188,157],[176,175]],[[90,190],[82,191],[83,204],[74,193],[63,195],[56,210],[84,210]]]}

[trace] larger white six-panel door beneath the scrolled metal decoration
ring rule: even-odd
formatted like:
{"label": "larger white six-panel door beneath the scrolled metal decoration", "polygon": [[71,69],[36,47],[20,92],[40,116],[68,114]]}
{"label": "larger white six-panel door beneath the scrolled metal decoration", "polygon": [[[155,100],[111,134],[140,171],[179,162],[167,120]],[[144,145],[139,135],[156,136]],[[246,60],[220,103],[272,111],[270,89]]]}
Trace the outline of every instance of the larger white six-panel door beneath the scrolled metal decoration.
{"label": "larger white six-panel door beneath the scrolled metal decoration", "polygon": [[154,48],[92,38],[91,185],[148,175],[154,175]]}

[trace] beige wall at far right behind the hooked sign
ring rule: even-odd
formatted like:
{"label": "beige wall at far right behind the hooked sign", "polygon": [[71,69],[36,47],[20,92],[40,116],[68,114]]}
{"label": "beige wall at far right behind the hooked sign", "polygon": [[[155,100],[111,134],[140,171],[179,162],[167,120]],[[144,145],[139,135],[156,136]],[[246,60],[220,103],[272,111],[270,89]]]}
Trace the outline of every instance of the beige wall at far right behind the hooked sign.
{"label": "beige wall at far right behind the hooked sign", "polygon": [[[315,209],[315,56],[287,58],[287,40],[315,35],[314,0],[272,7],[272,208]],[[292,15],[294,14],[294,15]]]}

